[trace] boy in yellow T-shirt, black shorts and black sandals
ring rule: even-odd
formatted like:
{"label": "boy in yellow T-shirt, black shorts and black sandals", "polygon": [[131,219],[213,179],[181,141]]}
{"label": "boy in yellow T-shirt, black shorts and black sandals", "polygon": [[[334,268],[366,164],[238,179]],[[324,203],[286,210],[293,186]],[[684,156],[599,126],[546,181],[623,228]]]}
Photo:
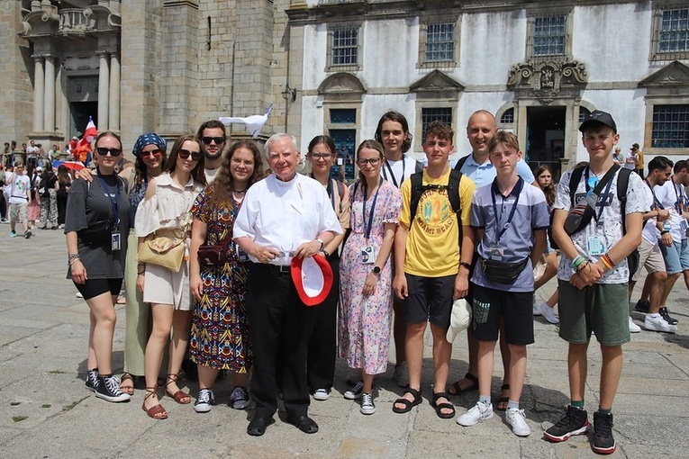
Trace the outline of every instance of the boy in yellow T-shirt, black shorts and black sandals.
{"label": "boy in yellow T-shirt, black shorts and black sandals", "polygon": [[[455,414],[448,395],[443,392],[452,353],[445,336],[452,302],[467,295],[468,274],[474,255],[469,215],[476,185],[467,175],[461,176],[458,187],[450,181],[448,158],[454,150],[453,137],[452,128],[440,121],[433,121],[426,130],[423,152],[428,158],[428,168],[422,173],[422,193],[412,215],[412,178],[402,184],[402,213],[394,239],[393,289],[403,300],[407,323],[404,347],[409,388],[401,399],[394,402],[393,411],[406,413],[422,401],[423,333],[426,322],[430,321],[433,387],[440,391],[433,394],[432,405],[442,419],[453,418]],[[458,193],[459,213],[452,209],[449,193]]]}

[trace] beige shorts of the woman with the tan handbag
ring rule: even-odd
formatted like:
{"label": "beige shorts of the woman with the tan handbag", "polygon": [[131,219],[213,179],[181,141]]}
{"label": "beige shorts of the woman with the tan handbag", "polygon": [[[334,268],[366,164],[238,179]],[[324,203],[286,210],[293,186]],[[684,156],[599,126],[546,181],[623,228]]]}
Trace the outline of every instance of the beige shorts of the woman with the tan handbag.
{"label": "beige shorts of the woman with the tan handbag", "polygon": [[191,310],[189,288],[189,264],[182,262],[182,269],[173,273],[162,266],[146,265],[143,281],[143,301],[172,304],[179,311]]}

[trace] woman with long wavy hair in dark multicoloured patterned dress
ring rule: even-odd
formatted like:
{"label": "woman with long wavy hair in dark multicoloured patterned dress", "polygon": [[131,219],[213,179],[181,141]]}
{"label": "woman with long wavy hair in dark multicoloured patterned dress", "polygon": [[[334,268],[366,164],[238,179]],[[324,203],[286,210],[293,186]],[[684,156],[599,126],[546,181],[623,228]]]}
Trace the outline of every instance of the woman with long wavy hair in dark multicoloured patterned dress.
{"label": "woman with long wavy hair in dark multicoloured patterned dress", "polygon": [[[220,172],[192,207],[190,284],[194,295],[189,357],[197,365],[199,393],[194,410],[204,413],[215,404],[213,383],[221,370],[232,372],[230,406],[249,406],[249,371],[253,364],[245,282],[248,266],[232,242],[232,226],[249,186],[264,176],[260,150],[252,140],[231,145]],[[222,266],[201,266],[198,247],[226,244]],[[244,257],[245,258],[245,257]]]}

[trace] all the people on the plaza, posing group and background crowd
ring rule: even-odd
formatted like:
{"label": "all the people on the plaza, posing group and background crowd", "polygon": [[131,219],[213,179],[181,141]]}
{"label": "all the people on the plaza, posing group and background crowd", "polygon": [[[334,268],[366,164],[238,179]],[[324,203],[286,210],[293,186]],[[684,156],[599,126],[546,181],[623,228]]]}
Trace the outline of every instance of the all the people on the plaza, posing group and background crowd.
{"label": "all the people on the plaza, posing group and background crowd", "polygon": [[[141,134],[134,162],[122,160],[117,134],[102,132],[93,165],[86,165],[94,168],[76,176],[64,165],[56,173],[53,160],[67,153],[90,162],[90,154],[74,156],[77,138],[62,152],[57,145],[45,152],[33,140],[16,149],[13,141],[0,166],[2,217],[12,237],[20,235],[17,223],[24,238],[37,221],[40,229],[64,228],[67,277],[90,311],[86,388],[98,398],[127,401],[144,388],[142,410],[166,419],[162,389],[204,413],[216,403],[219,374],[229,372],[231,408],[256,404],[249,435],[265,434],[278,397],[287,422],[313,434],[319,427],[308,415],[310,399],[331,397],[336,358],[353,371],[342,395],[372,415],[374,381],[386,372],[394,343],[393,378],[403,393],[392,410],[404,414],[422,403],[430,323],[436,415],[454,419],[451,397],[476,391],[476,406],[457,423],[470,427],[494,416],[498,347],[503,384],[495,410],[526,437],[520,399],[527,347],[532,316],[543,315],[559,323],[568,343],[571,392],[567,412],[544,436],[560,442],[590,428],[586,353],[594,335],[603,364],[593,449],[610,454],[621,345],[640,330],[629,314],[633,283],[646,267],[636,310],[646,314],[645,329],[667,333],[677,330],[667,294],[682,275],[689,288],[689,164],[655,157],[644,180],[639,145],[627,155],[616,148],[620,136],[609,113],[592,112],[579,130],[588,159],[558,184],[548,166],[531,172],[519,139],[497,130],[484,110],[467,123],[471,153],[452,167],[449,125],[429,124],[422,164],[406,154],[412,135],[403,114],[385,113],[375,139],[351,157],[358,178],[349,185],[331,178],[340,150],[327,135],[308,146],[308,175],[296,172],[302,155],[293,136],[273,135],[262,153],[252,140],[231,142],[220,121],[180,136],[169,153],[158,134]],[[166,250],[180,246],[173,265],[145,255],[160,238],[172,241]],[[315,304],[300,284],[307,269],[331,278]],[[536,302],[534,293],[556,276],[556,292]],[[124,374],[117,376],[113,332],[122,284]],[[472,308],[469,361],[467,373],[449,383],[447,333],[460,299]],[[182,389],[184,373],[198,379],[195,398]]]}

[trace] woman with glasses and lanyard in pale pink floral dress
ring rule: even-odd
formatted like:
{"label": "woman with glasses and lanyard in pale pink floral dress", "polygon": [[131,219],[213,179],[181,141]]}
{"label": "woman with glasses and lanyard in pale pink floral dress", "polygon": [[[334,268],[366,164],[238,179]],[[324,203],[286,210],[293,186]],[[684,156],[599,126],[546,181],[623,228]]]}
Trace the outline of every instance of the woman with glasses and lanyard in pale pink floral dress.
{"label": "woman with glasses and lanyard in pale pink floral dress", "polygon": [[402,194],[385,180],[383,146],[364,140],[357,148],[358,182],[349,186],[351,234],[340,265],[340,357],[361,371],[362,381],[344,393],[373,414],[373,378],[385,373],[393,314],[391,250]]}

